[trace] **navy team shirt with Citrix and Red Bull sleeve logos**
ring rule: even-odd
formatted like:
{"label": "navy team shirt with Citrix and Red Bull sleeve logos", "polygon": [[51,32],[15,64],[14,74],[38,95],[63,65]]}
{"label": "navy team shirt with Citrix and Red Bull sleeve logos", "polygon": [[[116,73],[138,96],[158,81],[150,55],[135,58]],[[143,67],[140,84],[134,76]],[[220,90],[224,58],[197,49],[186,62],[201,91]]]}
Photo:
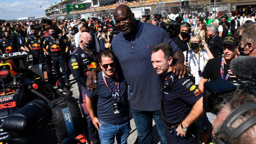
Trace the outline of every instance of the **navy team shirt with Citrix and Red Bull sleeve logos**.
{"label": "navy team shirt with Citrix and Red Bull sleeve logos", "polygon": [[[168,72],[163,75],[163,79],[168,79],[172,75],[172,71]],[[179,123],[181,123],[202,96],[203,92],[198,89],[189,76],[174,79],[172,88],[168,92],[164,92],[162,96],[165,118],[171,122],[180,118]]]}

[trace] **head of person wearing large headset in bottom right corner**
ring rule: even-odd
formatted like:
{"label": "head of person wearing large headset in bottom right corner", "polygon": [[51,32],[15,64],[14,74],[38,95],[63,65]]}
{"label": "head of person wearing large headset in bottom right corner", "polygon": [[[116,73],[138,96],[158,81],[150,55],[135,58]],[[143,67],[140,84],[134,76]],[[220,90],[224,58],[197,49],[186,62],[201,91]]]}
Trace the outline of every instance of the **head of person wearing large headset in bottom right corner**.
{"label": "head of person wearing large headset in bottom right corner", "polygon": [[[220,112],[213,121],[212,143],[255,143],[255,105],[256,99],[242,92],[235,94],[227,104],[221,105]],[[251,120],[251,123],[248,120]],[[228,125],[230,122],[232,126]]]}

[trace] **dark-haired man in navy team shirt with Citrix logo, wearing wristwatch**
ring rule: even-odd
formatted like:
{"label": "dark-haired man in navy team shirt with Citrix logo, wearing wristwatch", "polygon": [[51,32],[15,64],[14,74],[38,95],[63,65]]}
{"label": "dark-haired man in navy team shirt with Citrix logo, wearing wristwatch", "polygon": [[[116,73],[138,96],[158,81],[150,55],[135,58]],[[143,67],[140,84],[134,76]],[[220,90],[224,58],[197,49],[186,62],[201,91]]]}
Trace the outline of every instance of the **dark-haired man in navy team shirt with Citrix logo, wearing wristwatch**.
{"label": "dark-haired man in navy team shirt with Citrix logo, wearing wristwatch", "polygon": [[152,65],[157,74],[163,75],[164,80],[160,109],[167,142],[197,143],[194,122],[203,114],[202,91],[194,84],[193,76],[179,79],[172,72],[173,54],[170,44],[156,44],[150,52]]}

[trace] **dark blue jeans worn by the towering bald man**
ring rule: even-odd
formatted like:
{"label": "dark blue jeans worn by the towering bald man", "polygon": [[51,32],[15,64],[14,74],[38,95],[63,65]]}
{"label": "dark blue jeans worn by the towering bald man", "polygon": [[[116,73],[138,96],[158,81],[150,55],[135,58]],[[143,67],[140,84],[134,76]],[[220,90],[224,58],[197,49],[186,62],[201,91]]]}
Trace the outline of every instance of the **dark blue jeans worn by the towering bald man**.
{"label": "dark blue jeans worn by the towering bald man", "polygon": [[161,119],[161,112],[158,111],[138,111],[131,109],[132,116],[137,128],[138,137],[141,144],[150,144],[152,141],[152,118],[156,123],[157,132],[160,135],[161,144],[167,144],[164,123]]}

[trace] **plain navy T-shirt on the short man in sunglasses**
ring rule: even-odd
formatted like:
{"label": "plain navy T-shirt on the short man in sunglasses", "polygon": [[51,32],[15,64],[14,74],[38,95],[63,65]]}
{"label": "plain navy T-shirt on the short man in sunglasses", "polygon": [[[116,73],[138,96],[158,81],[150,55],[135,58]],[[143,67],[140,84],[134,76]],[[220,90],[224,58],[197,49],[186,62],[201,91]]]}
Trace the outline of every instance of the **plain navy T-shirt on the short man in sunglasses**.
{"label": "plain navy T-shirt on the short man in sunglasses", "polygon": [[[97,114],[98,118],[108,124],[120,124],[128,120],[129,118],[129,107],[128,107],[128,88],[127,84],[124,80],[124,76],[122,72],[118,71],[118,83],[119,83],[119,98],[122,100],[123,103],[123,111],[118,114],[114,113],[113,102],[114,98],[112,93],[110,92],[109,87],[112,89],[115,88],[116,85],[116,76],[113,78],[106,78],[108,86],[103,81],[102,71],[98,73],[98,81],[93,84],[97,86],[97,88],[93,91],[87,90],[86,96],[90,99],[95,98],[97,99]],[[117,98],[118,100],[118,98]]]}

